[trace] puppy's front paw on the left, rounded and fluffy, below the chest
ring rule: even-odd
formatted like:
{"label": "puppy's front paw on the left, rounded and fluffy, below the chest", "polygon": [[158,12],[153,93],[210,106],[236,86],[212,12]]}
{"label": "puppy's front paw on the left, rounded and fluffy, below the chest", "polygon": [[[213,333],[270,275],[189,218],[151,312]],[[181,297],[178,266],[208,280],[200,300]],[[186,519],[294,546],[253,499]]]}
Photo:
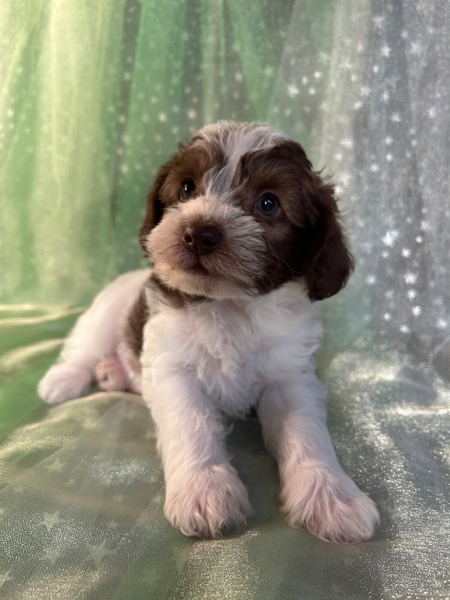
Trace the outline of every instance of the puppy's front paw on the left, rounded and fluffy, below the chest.
{"label": "puppy's front paw on the left, rounded and fluffy, below the chest", "polygon": [[229,529],[245,526],[251,506],[236,471],[220,464],[187,478],[169,479],[164,514],[185,535],[218,538]]}

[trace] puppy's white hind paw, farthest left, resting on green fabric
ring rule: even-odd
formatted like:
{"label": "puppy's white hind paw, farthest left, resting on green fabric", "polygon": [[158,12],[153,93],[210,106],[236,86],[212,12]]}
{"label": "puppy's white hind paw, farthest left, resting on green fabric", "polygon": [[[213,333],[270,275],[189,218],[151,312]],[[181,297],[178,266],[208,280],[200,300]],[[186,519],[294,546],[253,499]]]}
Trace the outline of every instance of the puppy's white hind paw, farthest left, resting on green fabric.
{"label": "puppy's white hind paw, farthest left, resting on green fabric", "polygon": [[49,404],[79,398],[88,392],[92,376],[88,370],[67,364],[50,367],[38,385],[38,394]]}

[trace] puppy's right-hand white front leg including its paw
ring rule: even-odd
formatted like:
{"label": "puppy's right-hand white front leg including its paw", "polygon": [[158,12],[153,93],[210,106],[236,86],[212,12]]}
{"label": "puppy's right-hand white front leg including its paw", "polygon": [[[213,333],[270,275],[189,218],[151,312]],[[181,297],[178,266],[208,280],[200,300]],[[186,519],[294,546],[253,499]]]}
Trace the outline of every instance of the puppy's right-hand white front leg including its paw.
{"label": "puppy's right-hand white front leg including its paw", "polygon": [[326,428],[325,388],[314,375],[273,385],[258,407],[266,445],[278,460],[281,511],[290,526],[321,539],[352,543],[372,537],[374,502],[346,475]]}

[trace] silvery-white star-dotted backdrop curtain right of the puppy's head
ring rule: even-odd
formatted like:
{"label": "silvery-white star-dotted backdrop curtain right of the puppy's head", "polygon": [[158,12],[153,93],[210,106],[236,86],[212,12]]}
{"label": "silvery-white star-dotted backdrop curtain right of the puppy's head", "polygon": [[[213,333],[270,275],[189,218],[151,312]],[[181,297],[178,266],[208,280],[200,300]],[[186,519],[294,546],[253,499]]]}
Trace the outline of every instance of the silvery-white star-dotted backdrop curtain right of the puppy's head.
{"label": "silvery-white star-dotted backdrop curtain right of the puppy's head", "polygon": [[328,77],[292,60],[296,31],[281,80],[316,110],[314,165],[341,197],[357,260],[346,326],[387,335],[448,376],[450,5],[338,2]]}

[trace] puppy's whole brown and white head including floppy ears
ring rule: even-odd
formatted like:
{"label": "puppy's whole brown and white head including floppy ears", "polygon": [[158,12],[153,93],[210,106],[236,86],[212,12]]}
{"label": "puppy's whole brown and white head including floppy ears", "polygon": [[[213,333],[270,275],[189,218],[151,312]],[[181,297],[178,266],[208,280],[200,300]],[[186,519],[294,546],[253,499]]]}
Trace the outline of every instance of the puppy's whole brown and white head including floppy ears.
{"label": "puppy's whole brown and white head including floppy ears", "polygon": [[208,125],[161,167],[140,230],[160,283],[240,298],[302,278],[312,300],[352,269],[334,190],[271,127]]}

